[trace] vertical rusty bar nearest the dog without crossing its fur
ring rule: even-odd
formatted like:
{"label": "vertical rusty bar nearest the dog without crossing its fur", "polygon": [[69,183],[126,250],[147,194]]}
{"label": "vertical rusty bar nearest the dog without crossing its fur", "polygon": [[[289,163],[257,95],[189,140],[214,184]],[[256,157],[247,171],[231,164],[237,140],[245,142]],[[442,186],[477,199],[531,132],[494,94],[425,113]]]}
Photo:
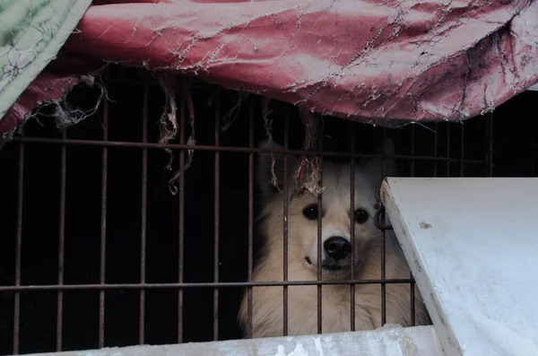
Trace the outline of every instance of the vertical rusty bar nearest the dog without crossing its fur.
{"label": "vertical rusty bar nearest the dog without crossing its fur", "polygon": [[[221,95],[217,95],[215,100],[215,147],[219,146],[220,142],[220,124],[221,124]],[[220,223],[220,195],[221,195],[221,155],[220,152],[215,151],[215,178],[214,178],[214,208],[215,208],[215,249],[214,249],[214,261],[213,261],[213,277],[214,282],[219,282],[219,223]],[[213,340],[219,340],[219,288],[213,289]]]}

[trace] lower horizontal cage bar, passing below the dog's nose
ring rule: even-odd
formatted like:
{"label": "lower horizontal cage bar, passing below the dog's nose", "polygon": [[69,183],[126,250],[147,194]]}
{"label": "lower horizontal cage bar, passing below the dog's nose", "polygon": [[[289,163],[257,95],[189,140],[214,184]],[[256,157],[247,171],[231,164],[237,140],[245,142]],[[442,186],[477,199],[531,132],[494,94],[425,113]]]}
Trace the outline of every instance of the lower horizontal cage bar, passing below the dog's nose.
{"label": "lower horizontal cage bar, passing below the dog's nose", "polygon": [[0,286],[0,291],[80,291],[80,290],[140,290],[179,288],[226,288],[226,287],[282,287],[284,285],[351,285],[381,283],[411,283],[411,279],[346,280],[346,281],[288,281],[288,282],[201,282],[201,283],[115,283],[115,284],[43,284]]}

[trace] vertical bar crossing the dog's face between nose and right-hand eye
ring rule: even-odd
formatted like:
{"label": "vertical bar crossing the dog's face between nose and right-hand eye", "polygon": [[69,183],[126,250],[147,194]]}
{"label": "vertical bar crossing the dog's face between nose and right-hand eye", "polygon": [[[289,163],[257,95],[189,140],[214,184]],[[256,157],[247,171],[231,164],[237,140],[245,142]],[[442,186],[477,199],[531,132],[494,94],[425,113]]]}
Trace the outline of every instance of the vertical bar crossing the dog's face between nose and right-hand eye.
{"label": "vertical bar crossing the dog's face between nose and right-hand eye", "polygon": [[[350,121],[351,153],[355,153],[355,123]],[[351,279],[355,279],[355,157],[350,161],[350,242],[351,242]],[[355,284],[350,286],[350,323],[355,331]]]}

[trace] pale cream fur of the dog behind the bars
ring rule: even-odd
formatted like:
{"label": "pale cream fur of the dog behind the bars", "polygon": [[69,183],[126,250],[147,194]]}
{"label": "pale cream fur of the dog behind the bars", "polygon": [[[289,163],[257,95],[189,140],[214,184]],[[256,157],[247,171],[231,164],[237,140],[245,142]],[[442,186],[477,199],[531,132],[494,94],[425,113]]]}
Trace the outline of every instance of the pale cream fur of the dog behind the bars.
{"label": "pale cream fur of the dog behind the bars", "polygon": [[[277,144],[264,144],[265,147]],[[385,152],[394,152],[392,141],[386,141]],[[273,161],[274,159],[274,161]],[[291,175],[297,168],[296,158],[288,159],[290,184]],[[386,160],[386,175],[394,173],[394,162]],[[282,155],[260,154],[257,165],[257,183],[262,188],[265,203],[262,228],[265,234],[265,248],[261,260],[256,265],[253,280],[256,282],[283,281],[283,195],[272,191],[273,172],[282,183]],[[351,239],[351,170],[348,164],[333,164],[323,161],[322,174],[323,209],[322,239],[342,236]],[[369,219],[363,224],[354,224],[354,260],[356,280],[381,278],[382,232],[374,224],[376,210],[375,188],[382,178],[380,160],[360,161],[355,169],[355,209],[363,208]],[[308,204],[316,204],[317,197],[305,194],[294,197],[288,213],[288,279],[289,281],[317,281],[317,221],[309,221],[302,213]],[[410,277],[400,246],[394,236],[386,234],[386,278],[406,279]],[[323,246],[322,241],[322,246]],[[310,259],[308,264],[306,259]],[[351,265],[351,264],[350,264]],[[350,280],[351,271],[322,270],[323,280]],[[386,323],[411,325],[410,285],[406,283],[386,284]],[[253,337],[282,335],[283,330],[283,288],[253,287],[252,323]],[[323,333],[351,330],[351,287],[349,285],[322,286],[322,327]],[[415,289],[416,324],[430,324],[430,317]],[[355,328],[371,330],[381,325],[381,286],[379,284],[355,285]],[[245,292],[239,322],[247,330],[247,291]],[[288,287],[288,334],[317,334],[317,286]]]}

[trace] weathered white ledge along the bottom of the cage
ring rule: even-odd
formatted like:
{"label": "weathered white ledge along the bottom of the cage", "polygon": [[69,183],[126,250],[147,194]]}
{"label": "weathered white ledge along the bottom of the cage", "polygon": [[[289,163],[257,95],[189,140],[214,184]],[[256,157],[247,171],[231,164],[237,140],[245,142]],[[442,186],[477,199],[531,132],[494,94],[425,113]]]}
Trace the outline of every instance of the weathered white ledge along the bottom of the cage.
{"label": "weathered white ledge along the bottom of the cage", "polygon": [[442,356],[433,326],[384,327],[375,331],[131,346],[39,356]]}

